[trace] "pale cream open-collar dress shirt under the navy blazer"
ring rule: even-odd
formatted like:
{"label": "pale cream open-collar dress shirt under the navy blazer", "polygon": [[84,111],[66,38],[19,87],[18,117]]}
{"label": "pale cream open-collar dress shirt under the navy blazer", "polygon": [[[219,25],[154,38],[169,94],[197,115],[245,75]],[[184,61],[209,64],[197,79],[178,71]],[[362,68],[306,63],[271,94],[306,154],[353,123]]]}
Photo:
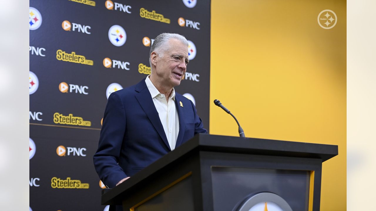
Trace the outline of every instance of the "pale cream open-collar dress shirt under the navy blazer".
{"label": "pale cream open-collar dress shirt under the navy blazer", "polygon": [[170,149],[174,150],[177,135],[179,134],[179,116],[175,106],[175,89],[172,89],[170,98],[168,98],[167,102],[165,95],[158,91],[152,81],[150,81],[149,76],[150,75],[148,75],[145,80],[146,86],[152,95],[153,102],[155,108],[157,109],[159,119],[161,119]]}

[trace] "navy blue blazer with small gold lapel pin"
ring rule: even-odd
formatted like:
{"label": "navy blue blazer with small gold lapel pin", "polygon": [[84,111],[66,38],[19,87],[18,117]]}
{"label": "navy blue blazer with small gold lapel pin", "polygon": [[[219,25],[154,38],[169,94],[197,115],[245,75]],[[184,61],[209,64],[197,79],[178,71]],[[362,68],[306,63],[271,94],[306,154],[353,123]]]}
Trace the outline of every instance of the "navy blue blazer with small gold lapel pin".
{"label": "navy blue blazer with small gold lapel pin", "polygon": [[[179,115],[176,147],[197,133],[208,133],[192,101],[175,92],[175,105]],[[105,185],[114,188],[121,179],[134,175],[170,151],[145,79],[111,93],[93,157]]]}

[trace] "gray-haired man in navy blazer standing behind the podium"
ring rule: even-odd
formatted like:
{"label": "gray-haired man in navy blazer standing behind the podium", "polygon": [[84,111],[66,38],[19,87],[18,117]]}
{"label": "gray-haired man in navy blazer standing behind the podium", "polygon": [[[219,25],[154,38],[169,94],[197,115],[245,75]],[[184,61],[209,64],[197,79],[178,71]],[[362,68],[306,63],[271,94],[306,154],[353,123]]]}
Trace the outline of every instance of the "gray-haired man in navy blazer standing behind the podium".
{"label": "gray-haired man in navy blazer standing behind the podium", "polygon": [[94,166],[109,188],[191,139],[207,133],[192,101],[176,93],[186,72],[188,42],[162,33],[149,54],[151,74],[108,98]]}

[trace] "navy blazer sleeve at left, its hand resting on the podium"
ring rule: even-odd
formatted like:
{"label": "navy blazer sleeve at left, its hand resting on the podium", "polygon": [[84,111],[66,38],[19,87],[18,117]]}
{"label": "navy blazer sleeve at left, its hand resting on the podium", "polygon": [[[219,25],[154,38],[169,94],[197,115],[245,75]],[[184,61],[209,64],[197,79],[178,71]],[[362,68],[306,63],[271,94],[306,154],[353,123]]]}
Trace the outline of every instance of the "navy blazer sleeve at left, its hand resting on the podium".
{"label": "navy blazer sleeve at left, its hand resting on the podium", "polygon": [[118,165],[125,127],[123,101],[118,93],[113,92],[107,101],[98,149],[93,156],[94,167],[99,178],[109,188],[114,188],[121,179],[127,177]]}

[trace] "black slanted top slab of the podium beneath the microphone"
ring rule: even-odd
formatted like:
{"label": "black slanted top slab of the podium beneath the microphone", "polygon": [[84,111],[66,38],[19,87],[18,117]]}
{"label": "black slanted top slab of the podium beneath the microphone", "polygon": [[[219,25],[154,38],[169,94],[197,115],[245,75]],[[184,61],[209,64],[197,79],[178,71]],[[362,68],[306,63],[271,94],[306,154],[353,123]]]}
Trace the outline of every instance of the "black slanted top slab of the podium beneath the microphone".
{"label": "black slanted top slab of the podium beneath the microphone", "polygon": [[270,139],[241,138],[197,134],[159,160],[147,166],[113,189],[102,192],[102,204],[121,204],[121,193],[135,187],[143,179],[167,166],[191,151],[211,151],[223,153],[269,155],[283,157],[318,158],[322,162],[338,155],[337,145],[325,145],[304,142],[290,142]]}

